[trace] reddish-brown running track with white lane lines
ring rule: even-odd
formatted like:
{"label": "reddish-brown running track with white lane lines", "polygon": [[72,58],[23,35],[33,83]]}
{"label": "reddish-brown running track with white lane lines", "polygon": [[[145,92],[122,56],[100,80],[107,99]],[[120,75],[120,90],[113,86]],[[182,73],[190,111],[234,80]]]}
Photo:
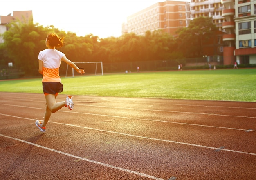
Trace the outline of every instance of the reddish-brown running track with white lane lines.
{"label": "reddish-brown running track with white lane lines", "polygon": [[[255,180],[256,103],[0,93],[1,180]],[[57,102],[65,100],[59,95]]]}

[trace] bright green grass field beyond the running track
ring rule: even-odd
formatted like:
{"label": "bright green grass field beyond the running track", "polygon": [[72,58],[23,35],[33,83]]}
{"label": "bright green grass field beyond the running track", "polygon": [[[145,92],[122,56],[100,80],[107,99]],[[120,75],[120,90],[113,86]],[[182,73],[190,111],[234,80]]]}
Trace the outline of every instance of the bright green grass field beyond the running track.
{"label": "bright green grass field beyond the running track", "polygon": [[[256,102],[256,69],[62,77],[63,94]],[[0,81],[1,92],[43,93],[41,78]]]}

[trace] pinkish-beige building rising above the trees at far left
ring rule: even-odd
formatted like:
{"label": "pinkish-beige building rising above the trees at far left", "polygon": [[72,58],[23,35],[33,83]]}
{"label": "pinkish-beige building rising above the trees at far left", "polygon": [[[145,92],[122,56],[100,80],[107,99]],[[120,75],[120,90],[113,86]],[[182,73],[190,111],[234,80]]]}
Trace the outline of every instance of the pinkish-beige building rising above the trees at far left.
{"label": "pinkish-beige building rising above the trees at far left", "polygon": [[[7,24],[9,24],[12,20],[20,20],[22,23],[28,23],[29,20],[33,21],[33,13],[32,11],[13,11],[13,16],[11,13],[7,16],[0,16],[0,34],[3,34],[7,31]],[[2,37],[0,37],[0,43],[3,43]]]}

